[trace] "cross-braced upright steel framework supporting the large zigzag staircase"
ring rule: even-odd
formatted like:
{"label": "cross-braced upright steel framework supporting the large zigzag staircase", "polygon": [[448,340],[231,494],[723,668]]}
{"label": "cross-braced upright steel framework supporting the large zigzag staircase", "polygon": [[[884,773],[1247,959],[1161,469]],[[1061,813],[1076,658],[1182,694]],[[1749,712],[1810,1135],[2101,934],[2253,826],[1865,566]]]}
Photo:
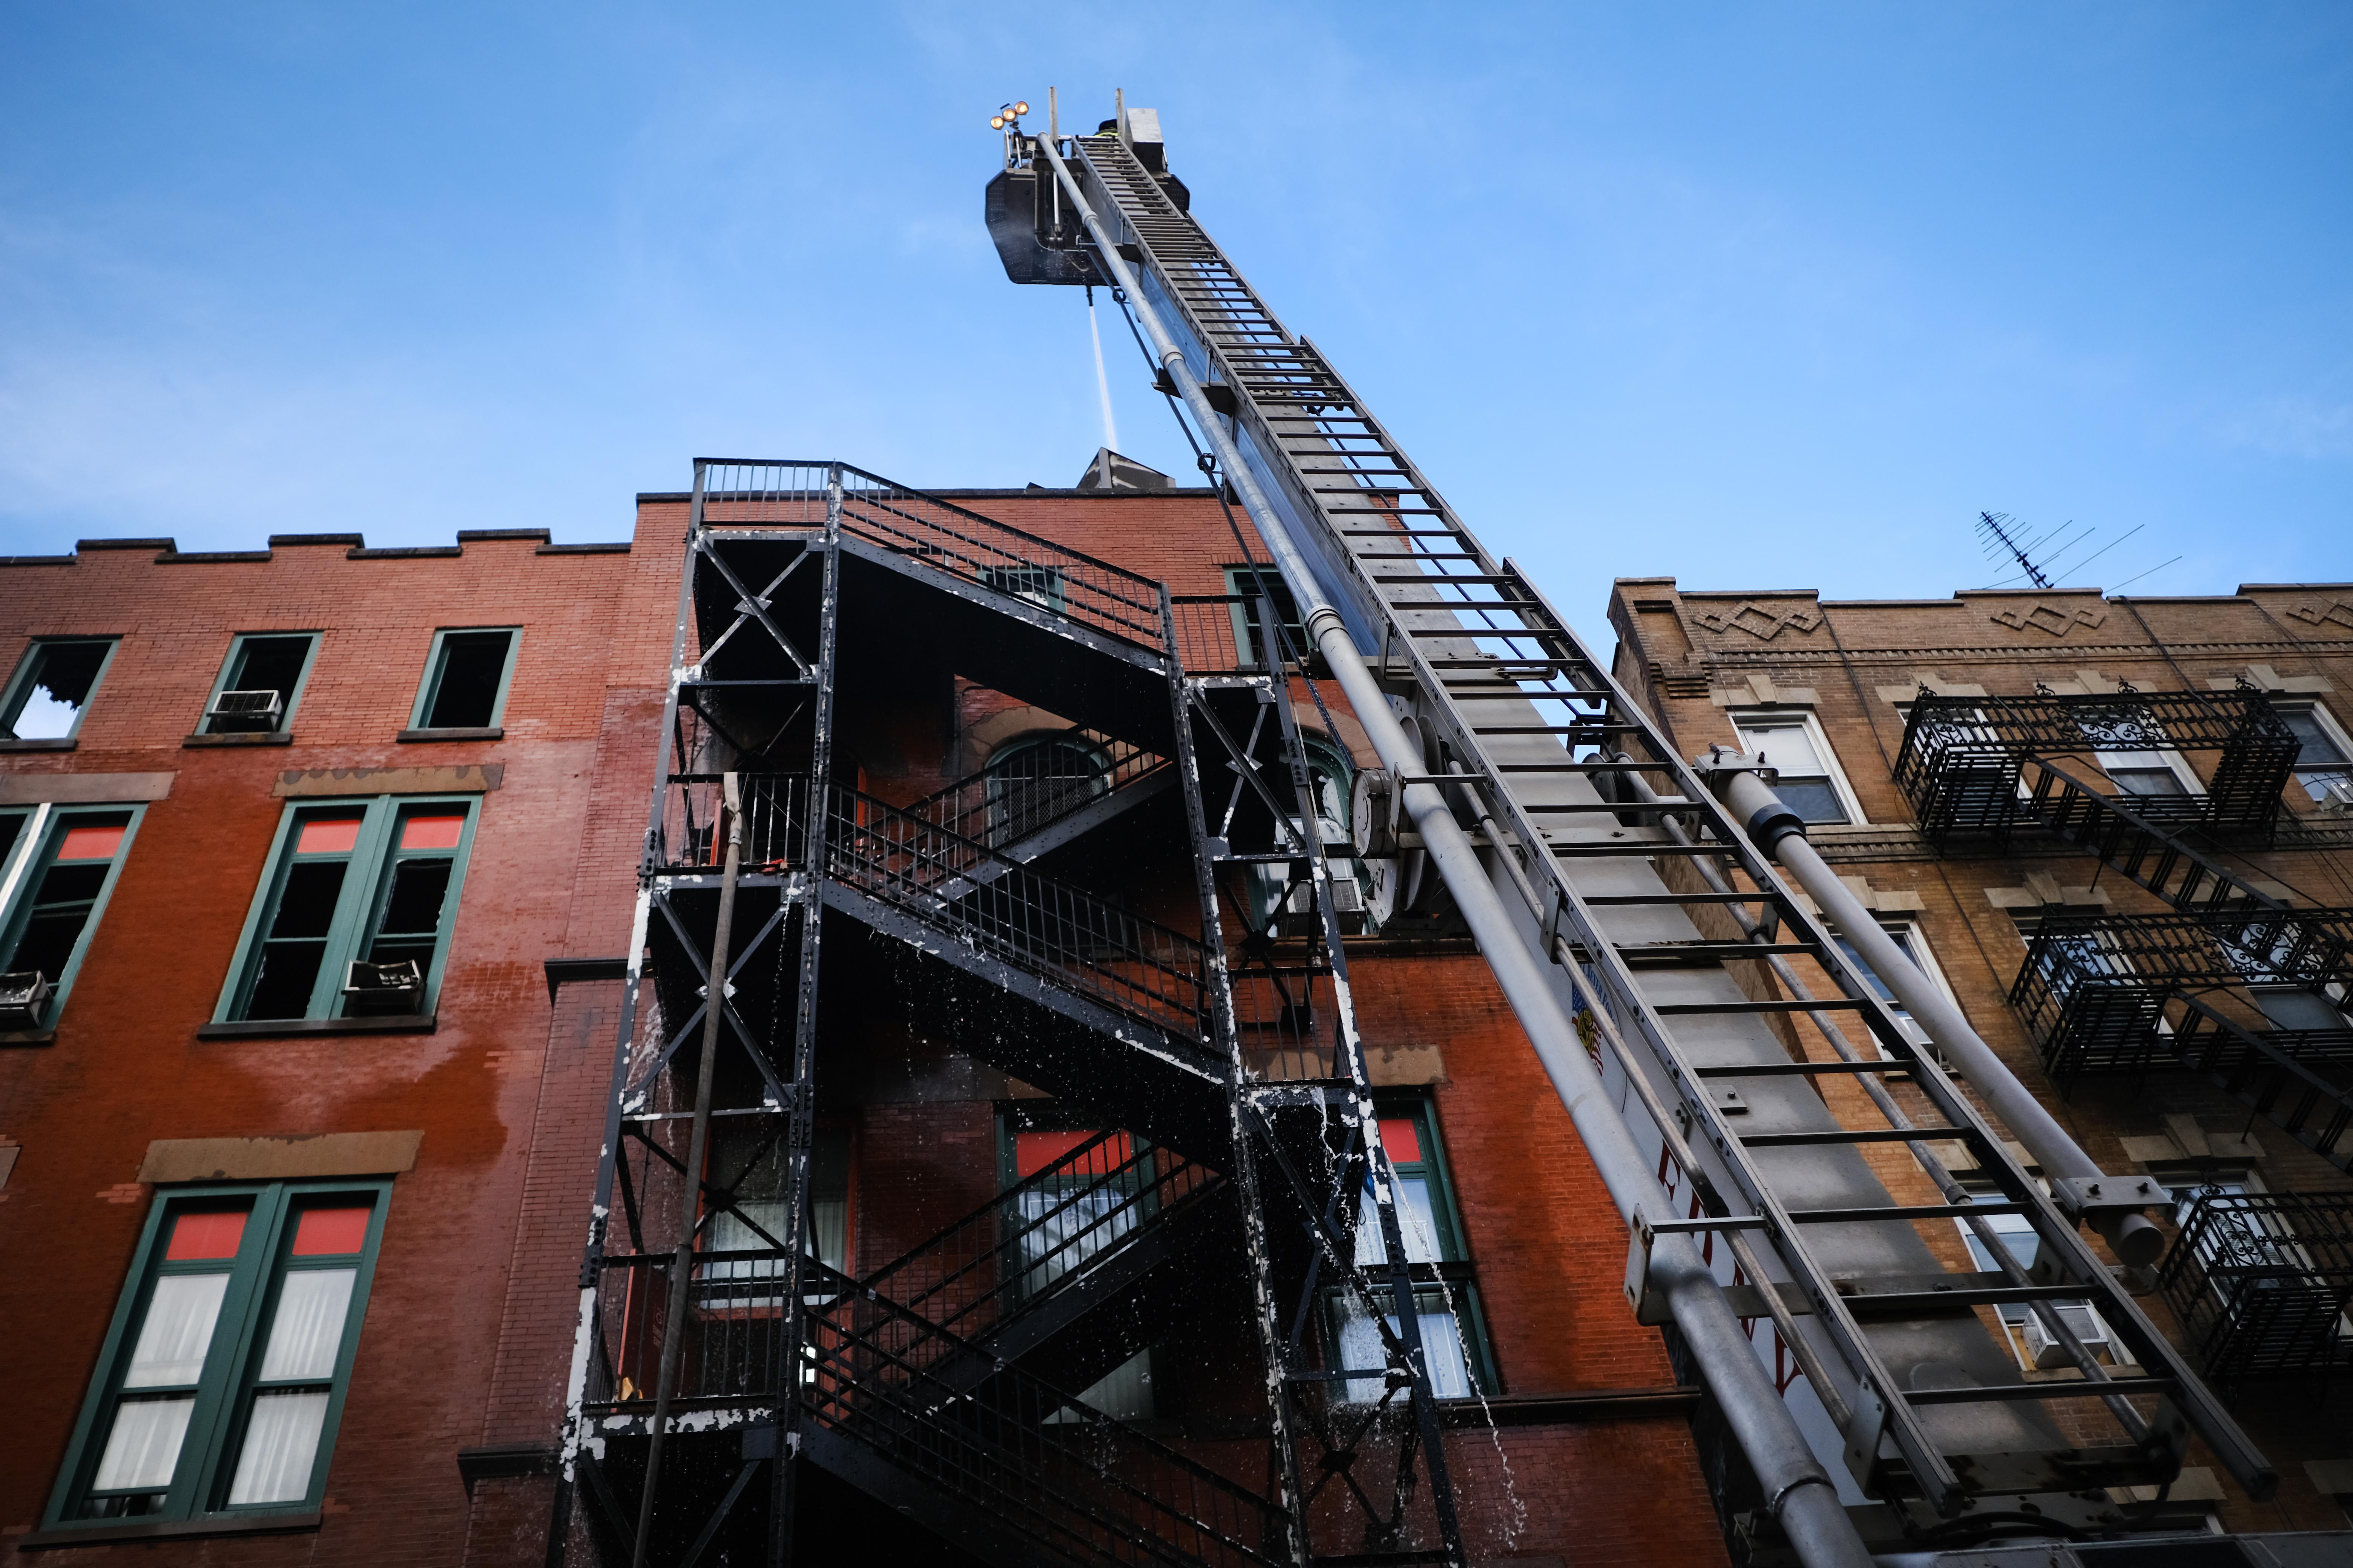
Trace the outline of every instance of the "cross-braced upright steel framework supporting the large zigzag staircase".
{"label": "cross-braced upright steel framework supporting the large zigzag staircase", "polygon": [[[720,477],[739,473],[736,465],[696,463],[654,804],[581,1267],[551,1566],[581,1549],[631,1563],[701,1563],[715,1561],[715,1552],[741,1561],[753,1537],[769,1563],[788,1561],[798,1486],[791,1458],[802,1453],[805,1385],[812,1375],[831,1378],[812,1373],[824,1356],[809,1345],[812,1319],[802,1307],[812,1291],[821,1295],[840,1284],[814,1267],[807,1227],[824,907],[840,858],[828,835],[838,818],[864,811],[852,804],[845,818],[828,785],[845,477],[871,475],[838,463],[762,468],[798,468],[805,477],[798,489],[753,498]],[[1417,1312],[1417,1291],[1426,1293],[1428,1284],[1417,1286],[1395,1173],[1377,1135],[1329,846],[1318,837],[1306,745],[1289,705],[1297,651],[1289,661],[1271,656],[1257,672],[1188,677],[1165,588],[1146,585],[1158,623],[1146,625],[1127,609],[1139,595],[1106,576],[1115,569],[1059,552],[1047,541],[1024,545],[988,536],[993,524],[986,520],[958,522],[967,534],[946,548],[904,550],[904,536],[939,531],[936,517],[925,522],[918,512],[936,512],[944,503],[894,491],[878,505],[871,496],[861,491],[859,529],[918,557],[918,567],[901,562],[901,571],[960,569],[955,590],[962,597],[974,597],[976,581],[1009,599],[1007,614],[1031,621],[1042,597],[1038,583],[1052,571],[1054,583],[1073,581],[1094,597],[1075,607],[1047,602],[1047,611],[1068,614],[1096,635],[1148,632],[1146,639],[1158,642],[1202,910],[1198,1046],[1224,1060],[1228,1175],[1240,1194],[1240,1262],[1249,1272],[1268,1396],[1271,1528],[1247,1556],[1287,1563],[1318,1556],[1315,1507],[1337,1488],[1353,1502],[1353,1512],[1339,1516],[1360,1521],[1360,1535],[1341,1542],[1346,1549],[1461,1563],[1426,1326]],[[741,524],[784,527],[751,531]],[[769,557],[774,571],[760,581],[729,555],[729,541],[744,538],[793,538],[798,550]],[[1056,564],[1033,564],[1021,550]],[[1066,578],[1059,562],[1080,567]],[[819,578],[814,646],[795,642],[779,609],[781,592],[800,574]],[[718,616],[725,625],[713,618],[713,604],[727,607]],[[1247,614],[1257,618],[1259,646],[1280,649],[1273,604],[1249,599]],[[758,649],[758,658],[746,661],[746,649]],[[1249,722],[1240,724],[1238,712]],[[744,731],[753,729],[769,743],[793,731],[800,766],[739,776],[708,764],[713,738],[744,755],[753,750]],[[1214,748],[1221,771],[1233,776],[1217,835],[1209,832],[1202,745]],[[1235,856],[1238,806],[1245,806],[1245,827],[1266,837],[1264,853]],[[845,853],[842,865],[852,865],[871,846]],[[986,856],[976,844],[967,853]],[[1315,1032],[1308,1020],[1327,1013],[1329,1046],[1313,1067],[1304,1070],[1306,1058],[1297,1051],[1278,1053],[1287,1067],[1268,1067],[1245,1044],[1224,933],[1221,860],[1282,865],[1280,907],[1297,907],[1292,893],[1311,891],[1313,936],[1289,964],[1299,999],[1280,1023],[1308,1037]],[[962,896],[991,877],[1002,882],[1005,872],[984,867],[941,889]],[[1249,912],[1231,898],[1226,905],[1247,929]],[[901,910],[894,919],[913,917]],[[1264,933],[1247,945],[1266,947]],[[1264,952],[1249,961],[1271,976],[1278,971]],[[769,976],[765,985],[762,976]],[[722,1072],[732,1074],[732,1088],[722,1088],[715,1105],[713,1079]],[[713,1154],[720,1121],[734,1133],[727,1161]],[[736,1187],[779,1150],[786,1201],[751,1213],[739,1206]],[[671,1206],[675,1222],[666,1225]],[[732,1215],[760,1246],[715,1246],[720,1215]],[[1360,1215],[1379,1227],[1384,1262],[1377,1267],[1358,1260]],[[1320,1347],[1318,1312],[1334,1298],[1351,1298],[1377,1328],[1381,1366],[1339,1366],[1337,1347]],[[711,1312],[711,1302],[727,1312]],[[689,1328],[696,1314],[704,1321]],[[713,1319],[727,1321],[718,1349]],[[696,1338],[692,1354],[682,1349],[689,1335]],[[765,1373],[751,1380],[765,1375],[767,1382],[758,1396],[744,1396],[720,1387],[715,1366],[758,1366]],[[1344,1401],[1346,1387],[1367,1385],[1379,1389],[1374,1401]],[[739,1446],[713,1467],[713,1434],[729,1432]],[[682,1441],[699,1443],[685,1465],[678,1458]],[[1301,1446],[1315,1453],[1313,1474],[1301,1465]],[[1369,1455],[1379,1455],[1386,1474],[1362,1474],[1360,1462]],[[760,1500],[765,1519],[748,1512]],[[1195,1561],[1167,1544],[1148,1556]]]}

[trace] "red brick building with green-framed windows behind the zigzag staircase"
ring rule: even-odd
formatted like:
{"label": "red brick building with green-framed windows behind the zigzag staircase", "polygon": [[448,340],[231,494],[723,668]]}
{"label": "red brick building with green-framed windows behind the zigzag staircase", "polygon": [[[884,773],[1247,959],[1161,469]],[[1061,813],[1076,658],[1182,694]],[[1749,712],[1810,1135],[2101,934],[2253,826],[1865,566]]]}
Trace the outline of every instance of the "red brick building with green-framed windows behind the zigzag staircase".
{"label": "red brick building with green-framed windows behind the zigzag staircase", "polygon": [[[692,976],[725,858],[718,773],[812,766],[791,729],[805,722],[798,698],[729,686],[784,691],[779,646],[838,637],[833,755],[814,764],[845,792],[824,799],[864,804],[833,809],[847,811],[833,853],[920,818],[962,844],[958,875],[1000,889],[1002,907],[1031,907],[1007,889],[1052,886],[1085,900],[1059,919],[1085,910],[1165,933],[1153,940],[1169,952],[1198,945],[1172,759],[1118,719],[1120,703],[1151,698],[1165,731],[1165,679],[1035,649],[1064,635],[1056,618],[1085,621],[1096,583],[1113,599],[1122,583],[1165,583],[1186,670],[1221,672],[1226,696],[1212,696],[1247,726],[1252,682],[1273,679],[1233,576],[1257,541],[1235,541],[1209,491],[887,491],[875,505],[974,538],[1026,531],[1061,552],[1047,552],[1056,576],[984,564],[958,597],[922,576],[946,559],[936,541],[868,541],[842,557],[840,625],[821,632],[814,569],[795,576],[784,543],[755,538],[805,534],[812,517],[762,524],[746,510],[727,545],[734,576],[696,578],[680,668],[701,696],[678,705],[682,494],[640,498],[631,545],[468,531],[433,550],[275,536],[268,550],[184,555],[85,541],[73,557],[0,567],[0,654],[14,661],[0,696],[0,971],[38,976],[9,994],[0,1034],[0,1248],[19,1260],[0,1274],[0,1324],[40,1347],[0,1467],[12,1549],[522,1563],[609,1561],[624,1542],[626,1556],[645,1465],[631,1443],[675,1284],[661,1211],[680,1201],[666,1173],[687,1154],[701,1058]],[[729,524],[725,510],[713,522]],[[755,564],[779,581],[751,581]],[[967,635],[1000,623],[1002,646]],[[1101,625],[1085,646],[1108,646]],[[1285,698],[1266,755],[1289,724],[1318,816],[1346,830],[1362,733],[1329,682],[1292,679]],[[661,766],[671,783],[649,830]],[[1202,773],[1214,832],[1219,811],[1238,820],[1228,795],[1245,790],[1231,769]],[[1080,1004],[1111,1016],[1104,997],[1151,985],[1096,943],[1092,999],[1038,1001],[1002,976],[991,990],[894,938],[882,882],[861,893],[882,914],[847,893],[824,919],[795,914],[807,867],[788,839],[807,832],[809,799],[774,785],[741,811],[741,1018],[722,1032],[744,1051],[715,1063],[713,1197],[687,1286],[696,1328],[673,1373],[668,1465],[692,1481],[661,1505],[656,1561],[678,1561],[704,1516],[732,1507],[722,1495],[758,1505],[739,1509],[748,1523],[715,1526],[727,1561],[748,1561],[769,1509],[795,1502],[812,1561],[868,1561],[882,1542],[993,1556],[986,1533],[948,1547],[904,1523],[899,1481],[861,1472],[842,1443],[831,1467],[767,1465],[760,1399],[798,1387],[819,1410],[828,1380],[852,1378],[840,1368],[854,1347],[892,1333],[913,1335],[889,1340],[901,1352],[927,1345],[922,1312],[969,1328],[979,1319],[955,1312],[988,1302],[1035,1328],[1049,1286],[1111,1279],[1106,1258],[1129,1260],[1118,1291],[1104,1286],[1115,1305],[1094,1314],[1115,1324],[1038,1328],[1014,1382],[1031,1401],[1082,1392],[1101,1415],[1031,1408],[1031,1441],[1073,1425],[1111,1434],[1136,1465],[1179,1476],[1202,1516],[1264,1507],[1275,1476],[1221,1121],[1209,1138],[1193,1112],[1167,1110],[1176,1100],[1113,1081],[1125,1070],[1089,1079],[1054,1034]],[[871,872],[889,872],[889,856],[932,863],[911,839],[892,844]],[[640,898],[647,867],[673,896],[671,924]],[[1299,889],[1238,863],[1221,896],[1238,912],[1235,1039],[1261,1065],[1337,1051],[1351,1011],[1315,966]],[[896,919],[913,919],[906,907]],[[1400,1234],[1417,1309],[1442,1331],[1431,1378],[1466,1544],[1478,1561],[1720,1561],[1694,1394],[1626,1314],[1624,1227],[1485,964],[1438,900],[1351,882],[1334,907],[1381,1140],[1414,1204]],[[633,919],[647,922],[635,938]],[[812,924],[826,987],[814,1093],[793,1131],[784,1004]],[[746,1067],[758,1051],[784,1063],[781,1079],[762,1086]],[[624,1154],[600,1194],[614,1138]],[[772,1178],[791,1150],[812,1201],[786,1215]],[[624,1222],[642,1225],[638,1244],[619,1241]],[[929,1305],[885,1333],[842,1307],[854,1295],[826,1298],[805,1276],[802,1300],[826,1305],[809,1307],[819,1326],[800,1354],[824,1371],[786,1378],[762,1363],[762,1335],[786,1316],[791,1253],[772,1234],[786,1225],[805,1227],[795,1253],[812,1272]],[[974,1265],[955,1265],[958,1246],[1012,1265],[965,1300]],[[1294,1326],[1325,1347],[1308,1354],[1362,1368],[1344,1349],[1377,1331],[1337,1291],[1313,1300],[1315,1321]],[[1379,1375],[1360,1385],[1369,1406]],[[824,1413],[812,1420],[821,1436]],[[1318,1549],[1426,1535],[1431,1481],[1402,1502],[1386,1490],[1395,1422],[1351,1453],[1369,1512],[1346,1497],[1355,1479],[1308,1474]],[[595,1476],[569,1469],[579,1455]],[[1365,1523],[1381,1509],[1405,1509],[1386,1542]]]}

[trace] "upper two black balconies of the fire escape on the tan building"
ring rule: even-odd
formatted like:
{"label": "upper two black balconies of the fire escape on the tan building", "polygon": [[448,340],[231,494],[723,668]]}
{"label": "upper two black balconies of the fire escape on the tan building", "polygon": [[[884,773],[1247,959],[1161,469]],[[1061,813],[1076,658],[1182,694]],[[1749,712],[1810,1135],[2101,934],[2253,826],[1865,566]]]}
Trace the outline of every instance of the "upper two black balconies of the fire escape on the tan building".
{"label": "upper two black balconies of the fire escape on the tan building", "polygon": [[[2205,790],[2092,783],[2101,752],[2209,757]],[[2287,907],[2224,865],[2271,842],[2297,736],[2261,691],[1920,693],[1897,783],[1939,846],[2042,835],[2155,893],[2162,914],[2045,912],[2009,999],[2057,1084],[2188,1070],[2353,1168],[2353,912]]]}

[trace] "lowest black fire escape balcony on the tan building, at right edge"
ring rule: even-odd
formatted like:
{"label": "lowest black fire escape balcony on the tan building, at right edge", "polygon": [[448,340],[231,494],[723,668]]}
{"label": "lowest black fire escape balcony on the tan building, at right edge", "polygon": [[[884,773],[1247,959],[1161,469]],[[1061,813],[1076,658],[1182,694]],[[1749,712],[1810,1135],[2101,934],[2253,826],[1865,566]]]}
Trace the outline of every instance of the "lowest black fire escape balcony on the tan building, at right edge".
{"label": "lowest black fire escape balcony on the tan building, at right edge", "polygon": [[2353,1371],[2353,1192],[2207,1187],[2158,1288],[2217,1382]]}

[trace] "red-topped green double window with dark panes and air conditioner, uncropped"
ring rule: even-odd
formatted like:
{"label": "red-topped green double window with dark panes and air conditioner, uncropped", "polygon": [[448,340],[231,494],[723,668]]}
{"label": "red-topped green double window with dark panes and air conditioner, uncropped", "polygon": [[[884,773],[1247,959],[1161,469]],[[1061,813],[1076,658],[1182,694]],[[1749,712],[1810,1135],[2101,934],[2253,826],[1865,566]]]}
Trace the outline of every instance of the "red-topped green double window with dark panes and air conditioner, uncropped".
{"label": "red-topped green double window with dark panes and air conditioner, uncropped", "polygon": [[473,849],[478,799],[393,797],[287,806],[254,891],[221,1023],[344,1018],[353,964],[414,961],[431,1013]]}

